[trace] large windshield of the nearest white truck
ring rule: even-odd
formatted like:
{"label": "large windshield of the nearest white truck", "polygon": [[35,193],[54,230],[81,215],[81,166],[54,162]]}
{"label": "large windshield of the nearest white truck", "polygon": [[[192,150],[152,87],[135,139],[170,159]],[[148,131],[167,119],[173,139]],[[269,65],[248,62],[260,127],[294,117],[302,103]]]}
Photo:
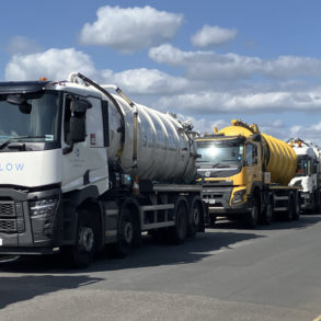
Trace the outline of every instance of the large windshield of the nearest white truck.
{"label": "large windshield of the nearest white truck", "polygon": [[0,146],[58,139],[59,96],[55,91],[0,96]]}

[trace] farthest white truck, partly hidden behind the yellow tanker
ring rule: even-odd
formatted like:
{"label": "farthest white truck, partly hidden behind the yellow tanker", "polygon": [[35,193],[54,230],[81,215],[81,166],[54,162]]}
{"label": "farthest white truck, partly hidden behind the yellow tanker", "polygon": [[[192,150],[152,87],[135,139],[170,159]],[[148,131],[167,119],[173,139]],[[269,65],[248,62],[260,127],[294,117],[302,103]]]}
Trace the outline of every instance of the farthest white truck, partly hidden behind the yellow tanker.
{"label": "farthest white truck, partly hidden behind the yellow tanker", "polygon": [[301,138],[291,138],[288,144],[298,156],[297,172],[289,185],[300,187],[300,209],[302,213],[320,211],[321,150]]}

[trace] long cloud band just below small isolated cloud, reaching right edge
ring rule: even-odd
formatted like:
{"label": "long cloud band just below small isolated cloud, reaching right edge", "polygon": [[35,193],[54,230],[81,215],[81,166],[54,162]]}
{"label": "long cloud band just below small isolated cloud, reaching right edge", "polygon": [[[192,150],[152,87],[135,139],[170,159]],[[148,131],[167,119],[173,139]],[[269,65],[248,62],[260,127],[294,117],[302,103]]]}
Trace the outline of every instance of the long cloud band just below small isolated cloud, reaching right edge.
{"label": "long cloud band just below small isolated cloud, reaching right edge", "polygon": [[149,49],[149,57],[159,64],[183,67],[190,79],[251,79],[265,77],[320,77],[321,60],[309,57],[279,56],[274,60],[215,51],[183,51],[170,44]]}

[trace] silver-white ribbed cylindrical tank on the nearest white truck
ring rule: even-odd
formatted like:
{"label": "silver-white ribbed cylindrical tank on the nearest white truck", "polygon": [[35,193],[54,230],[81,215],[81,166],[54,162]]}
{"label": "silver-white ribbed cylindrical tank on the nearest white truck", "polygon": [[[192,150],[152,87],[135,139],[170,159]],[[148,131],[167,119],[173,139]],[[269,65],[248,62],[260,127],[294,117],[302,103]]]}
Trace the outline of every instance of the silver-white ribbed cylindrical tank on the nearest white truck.
{"label": "silver-white ribbed cylindrical tank on the nearest white truck", "polygon": [[110,163],[119,164],[124,172],[138,175],[140,180],[192,182],[197,157],[194,134],[169,113],[137,103],[133,107],[121,95],[112,96],[108,100]]}

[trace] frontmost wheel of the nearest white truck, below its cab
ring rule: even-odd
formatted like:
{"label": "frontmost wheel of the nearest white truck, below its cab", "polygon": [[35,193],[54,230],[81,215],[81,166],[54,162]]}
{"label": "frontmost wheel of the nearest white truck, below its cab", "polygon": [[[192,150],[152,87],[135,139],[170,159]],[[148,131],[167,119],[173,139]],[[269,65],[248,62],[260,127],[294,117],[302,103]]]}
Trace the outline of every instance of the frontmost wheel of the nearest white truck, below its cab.
{"label": "frontmost wheel of the nearest white truck, below its cab", "polygon": [[79,209],[73,245],[61,248],[65,263],[70,267],[83,268],[90,265],[94,249],[98,229],[89,210]]}

